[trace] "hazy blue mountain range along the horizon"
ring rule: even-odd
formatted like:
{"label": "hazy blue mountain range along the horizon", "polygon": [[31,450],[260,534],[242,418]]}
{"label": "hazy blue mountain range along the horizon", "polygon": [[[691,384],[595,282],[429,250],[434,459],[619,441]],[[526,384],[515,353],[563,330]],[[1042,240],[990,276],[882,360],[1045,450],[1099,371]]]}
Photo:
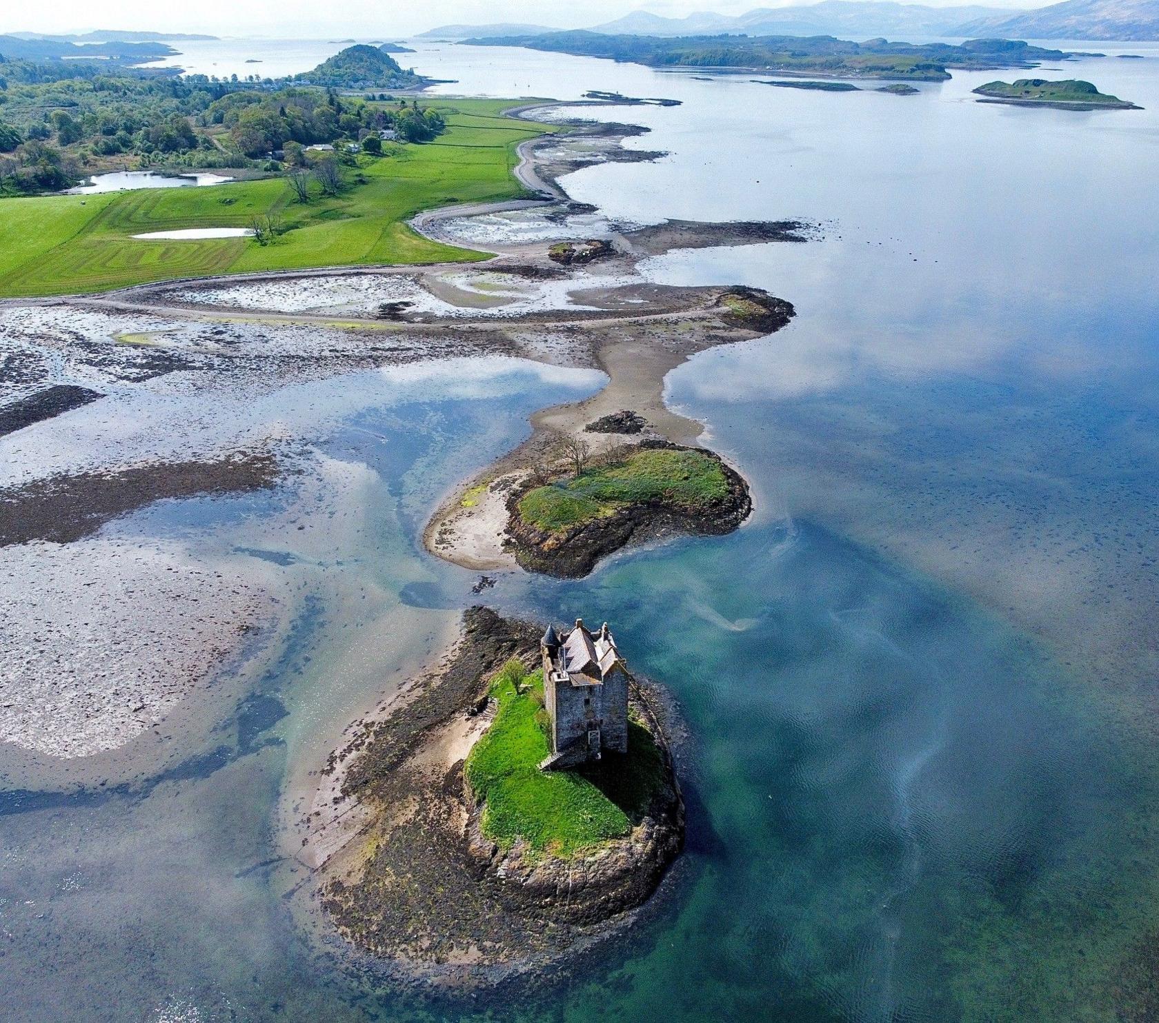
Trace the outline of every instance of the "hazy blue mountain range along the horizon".
{"label": "hazy blue mountain range along the horizon", "polygon": [[[531,36],[559,31],[534,24],[449,24],[420,38],[467,39]],[[1016,38],[1016,39],[1159,39],[1159,0],[1064,0],[1036,10],[1009,10],[978,5],[928,7],[892,0],[821,0],[793,7],[761,7],[748,14],[712,12],[663,17],[636,10],[595,25],[605,35],[837,35],[858,39],[891,38]]]}

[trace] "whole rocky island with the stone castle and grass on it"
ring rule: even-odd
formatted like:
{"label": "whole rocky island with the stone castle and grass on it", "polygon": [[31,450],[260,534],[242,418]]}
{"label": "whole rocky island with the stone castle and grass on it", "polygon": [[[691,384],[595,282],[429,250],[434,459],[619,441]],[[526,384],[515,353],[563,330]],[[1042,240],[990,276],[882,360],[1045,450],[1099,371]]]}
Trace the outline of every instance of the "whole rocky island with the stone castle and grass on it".
{"label": "whole rocky island with the stone castle and grass on it", "polygon": [[618,933],[684,845],[659,690],[603,624],[474,607],[440,670],[331,757],[367,823],[323,906],[401,977],[494,982]]}

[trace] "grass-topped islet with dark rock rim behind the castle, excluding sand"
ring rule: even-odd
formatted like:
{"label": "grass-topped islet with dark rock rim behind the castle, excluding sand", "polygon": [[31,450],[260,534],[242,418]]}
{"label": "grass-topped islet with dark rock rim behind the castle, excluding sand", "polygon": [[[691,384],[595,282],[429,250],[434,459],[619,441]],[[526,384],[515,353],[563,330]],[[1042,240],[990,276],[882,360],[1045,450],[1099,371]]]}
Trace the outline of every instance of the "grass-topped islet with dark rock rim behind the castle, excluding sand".
{"label": "grass-topped islet with dark rock rim behind the castle, excluding sand", "polygon": [[744,480],[710,451],[644,441],[576,468],[508,499],[508,538],[525,569],[585,576],[636,533],[730,533],[752,507]]}

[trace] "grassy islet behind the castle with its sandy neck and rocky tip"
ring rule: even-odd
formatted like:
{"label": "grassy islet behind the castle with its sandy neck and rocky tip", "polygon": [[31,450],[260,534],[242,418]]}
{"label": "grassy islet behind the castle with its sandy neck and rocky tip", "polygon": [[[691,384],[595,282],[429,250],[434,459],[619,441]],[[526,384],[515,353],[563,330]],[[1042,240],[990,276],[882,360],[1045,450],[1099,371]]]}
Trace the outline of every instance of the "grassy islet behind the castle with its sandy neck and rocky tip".
{"label": "grassy islet behind the castle with its sandy neck and rocky tip", "polygon": [[423,534],[428,550],[480,571],[578,578],[628,545],[737,529],[752,510],[748,484],[690,444],[701,425],[665,405],[664,374],[693,351],[780,330],[794,310],[749,287],[707,298],[693,316],[653,316],[602,339],[593,361],[607,386],[537,412],[531,438],[444,500]]}

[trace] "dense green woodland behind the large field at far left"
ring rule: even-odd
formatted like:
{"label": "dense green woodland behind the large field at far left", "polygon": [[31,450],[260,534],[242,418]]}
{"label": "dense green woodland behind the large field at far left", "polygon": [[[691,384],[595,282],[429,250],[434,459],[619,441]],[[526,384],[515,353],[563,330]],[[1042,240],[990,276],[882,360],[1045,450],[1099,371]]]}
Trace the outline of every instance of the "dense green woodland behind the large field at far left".
{"label": "dense green woodland behind the large field at far left", "polygon": [[[372,63],[393,70],[393,61],[381,57]],[[385,95],[366,102],[330,89],[282,86],[0,58],[0,154],[6,159],[0,191],[66,188],[82,173],[117,166],[119,155],[141,167],[264,161],[277,169],[270,161],[282,151],[290,168],[301,168],[305,148],[314,144],[359,141],[378,154],[385,130],[402,141],[424,143],[446,127],[442,116],[417,102],[387,105]]]}

